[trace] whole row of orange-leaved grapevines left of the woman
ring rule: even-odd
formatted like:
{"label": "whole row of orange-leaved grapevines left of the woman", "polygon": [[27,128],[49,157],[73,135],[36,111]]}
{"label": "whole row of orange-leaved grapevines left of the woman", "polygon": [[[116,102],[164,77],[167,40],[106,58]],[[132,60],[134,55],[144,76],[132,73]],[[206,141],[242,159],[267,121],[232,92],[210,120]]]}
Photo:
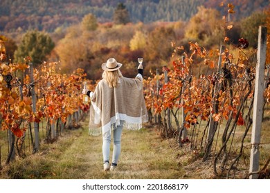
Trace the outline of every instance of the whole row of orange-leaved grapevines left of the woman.
{"label": "whole row of orange-leaved grapevines left of the woman", "polygon": [[[4,60],[3,44],[1,53]],[[15,156],[37,152],[41,141],[53,143],[64,128],[78,127],[89,109],[89,105],[82,104],[83,70],[60,74],[57,63],[44,63],[34,69],[30,60],[1,63],[0,161],[8,152],[6,164]]]}

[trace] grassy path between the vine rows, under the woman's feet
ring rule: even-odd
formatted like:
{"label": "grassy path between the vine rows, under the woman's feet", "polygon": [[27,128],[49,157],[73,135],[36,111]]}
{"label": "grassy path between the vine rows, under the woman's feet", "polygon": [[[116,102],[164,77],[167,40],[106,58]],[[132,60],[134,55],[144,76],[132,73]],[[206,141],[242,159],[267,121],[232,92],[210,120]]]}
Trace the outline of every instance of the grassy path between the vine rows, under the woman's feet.
{"label": "grassy path between the vine rows, under the woman's feet", "polygon": [[102,136],[89,136],[87,123],[82,123],[78,130],[67,130],[57,143],[42,143],[39,153],[3,168],[0,178],[183,179],[186,172],[177,159],[177,145],[161,140],[153,128],[123,130],[118,170],[104,172]]}

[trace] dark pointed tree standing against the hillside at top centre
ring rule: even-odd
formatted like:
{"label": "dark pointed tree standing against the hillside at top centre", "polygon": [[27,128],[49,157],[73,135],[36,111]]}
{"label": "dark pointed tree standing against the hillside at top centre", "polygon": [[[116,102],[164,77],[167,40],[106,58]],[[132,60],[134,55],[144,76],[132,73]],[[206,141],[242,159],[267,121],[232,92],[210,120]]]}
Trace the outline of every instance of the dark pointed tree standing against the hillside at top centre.
{"label": "dark pointed tree standing against the hillside at top centre", "polygon": [[129,12],[123,3],[118,3],[118,6],[114,11],[114,23],[124,25],[129,23]]}

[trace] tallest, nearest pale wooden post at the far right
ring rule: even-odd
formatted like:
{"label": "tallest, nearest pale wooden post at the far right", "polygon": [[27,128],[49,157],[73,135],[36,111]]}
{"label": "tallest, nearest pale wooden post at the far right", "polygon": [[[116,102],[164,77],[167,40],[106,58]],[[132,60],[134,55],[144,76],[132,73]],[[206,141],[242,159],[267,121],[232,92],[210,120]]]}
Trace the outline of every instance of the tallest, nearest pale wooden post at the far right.
{"label": "tallest, nearest pale wooden post at the far right", "polygon": [[258,52],[255,74],[255,91],[253,103],[253,125],[251,134],[251,159],[249,179],[258,179],[260,159],[260,133],[262,128],[262,112],[264,101],[264,65],[267,50],[267,27],[260,26],[258,34]]}

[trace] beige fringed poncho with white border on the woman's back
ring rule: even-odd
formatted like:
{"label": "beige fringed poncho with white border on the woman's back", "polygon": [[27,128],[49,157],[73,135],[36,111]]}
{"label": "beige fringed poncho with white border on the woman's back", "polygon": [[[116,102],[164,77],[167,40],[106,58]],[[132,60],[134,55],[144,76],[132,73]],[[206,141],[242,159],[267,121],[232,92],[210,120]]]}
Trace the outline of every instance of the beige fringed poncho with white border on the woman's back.
{"label": "beige fringed poncho with white border on the woman's back", "polygon": [[139,130],[147,119],[142,77],[120,77],[117,88],[109,88],[104,79],[98,83],[91,96],[90,135],[111,134],[120,121],[124,128]]}

